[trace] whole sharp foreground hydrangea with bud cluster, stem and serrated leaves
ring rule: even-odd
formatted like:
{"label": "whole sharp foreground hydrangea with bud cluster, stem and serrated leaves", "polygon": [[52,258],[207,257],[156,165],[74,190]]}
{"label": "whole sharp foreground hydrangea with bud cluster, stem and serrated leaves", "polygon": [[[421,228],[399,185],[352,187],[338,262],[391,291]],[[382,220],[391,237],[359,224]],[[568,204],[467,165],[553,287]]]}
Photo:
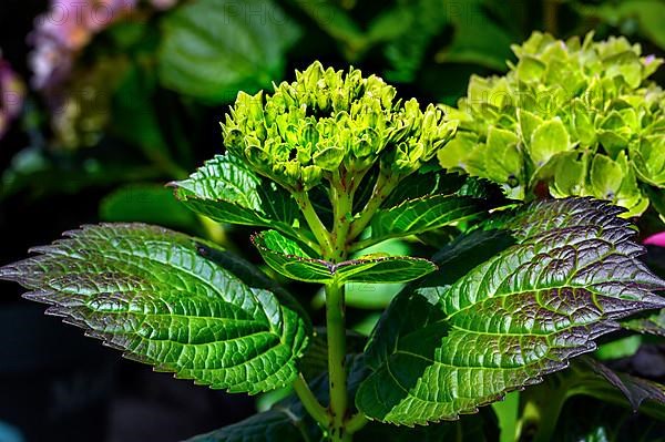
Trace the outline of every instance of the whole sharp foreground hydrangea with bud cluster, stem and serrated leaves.
{"label": "whole sharp foreground hydrangea with bud cluster, stem and serrated leaves", "polygon": [[[323,285],[325,328],[242,257],[144,224],[69,232],[0,278],[156,370],[229,392],[293,389],[192,441],[494,440],[480,407],[665,306],[665,281],[640,261],[618,207],[508,207],[491,183],[441,171],[434,156],[457,124],[377,76],[314,63],[272,94],[241,93],[223,123],[227,151],[171,184],[198,214],[260,228],[253,243],[274,276]],[[433,256],[362,251],[447,226],[459,234]],[[346,286],[379,282],[409,284],[368,338],[349,335]],[[665,403],[648,381],[631,380],[636,399],[608,369],[579,370],[594,379],[589,394]]]}

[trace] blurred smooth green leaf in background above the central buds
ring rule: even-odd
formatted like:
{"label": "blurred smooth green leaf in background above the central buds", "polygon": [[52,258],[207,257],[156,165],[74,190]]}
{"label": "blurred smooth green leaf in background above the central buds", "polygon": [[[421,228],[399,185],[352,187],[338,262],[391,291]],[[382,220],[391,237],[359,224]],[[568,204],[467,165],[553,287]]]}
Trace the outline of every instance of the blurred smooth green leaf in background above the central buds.
{"label": "blurred smooth green leaf in background above the central buds", "polygon": [[270,0],[200,0],[164,20],[160,79],[177,92],[227,103],[283,75],[297,24]]}

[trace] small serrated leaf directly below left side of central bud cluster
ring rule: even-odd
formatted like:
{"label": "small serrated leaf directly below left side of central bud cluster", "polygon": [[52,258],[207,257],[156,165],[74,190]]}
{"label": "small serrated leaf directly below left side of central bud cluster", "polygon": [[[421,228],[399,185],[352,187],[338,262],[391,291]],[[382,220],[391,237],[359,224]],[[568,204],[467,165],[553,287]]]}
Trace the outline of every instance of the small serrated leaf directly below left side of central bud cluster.
{"label": "small serrated leaf directly below left side of central bud cluster", "polygon": [[273,227],[297,236],[304,225],[295,199],[234,155],[216,155],[187,179],[170,184],[192,210],[219,223]]}

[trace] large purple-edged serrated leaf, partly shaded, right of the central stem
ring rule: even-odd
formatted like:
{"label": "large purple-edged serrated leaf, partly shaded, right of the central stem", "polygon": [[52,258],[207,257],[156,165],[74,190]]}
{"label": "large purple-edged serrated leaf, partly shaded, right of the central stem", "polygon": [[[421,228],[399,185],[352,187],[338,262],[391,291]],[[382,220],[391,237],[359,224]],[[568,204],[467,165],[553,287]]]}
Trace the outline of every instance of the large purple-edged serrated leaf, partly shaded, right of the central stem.
{"label": "large purple-edged serrated leaf, partly shaded, right of the central stem", "polygon": [[665,282],[637,259],[643,248],[621,212],[569,198],[499,215],[488,226],[516,244],[446,281],[449,259],[389,307],[358,408],[397,424],[456,419],[565,368],[617,319],[665,305],[652,294]]}

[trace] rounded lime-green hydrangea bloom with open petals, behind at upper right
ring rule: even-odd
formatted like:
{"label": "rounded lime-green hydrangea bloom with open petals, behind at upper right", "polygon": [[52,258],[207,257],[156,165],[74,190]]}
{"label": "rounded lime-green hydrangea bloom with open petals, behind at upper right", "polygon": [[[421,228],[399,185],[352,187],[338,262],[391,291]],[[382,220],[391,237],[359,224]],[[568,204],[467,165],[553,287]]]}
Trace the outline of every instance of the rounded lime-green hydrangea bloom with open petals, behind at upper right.
{"label": "rounded lime-green hydrangea bloom with open petals, behind at upper right", "polygon": [[555,40],[535,32],[513,47],[503,76],[473,76],[458,109],[442,167],[462,169],[529,199],[610,199],[640,215],[644,186],[665,187],[665,92],[648,81],[663,60],[624,38]]}

